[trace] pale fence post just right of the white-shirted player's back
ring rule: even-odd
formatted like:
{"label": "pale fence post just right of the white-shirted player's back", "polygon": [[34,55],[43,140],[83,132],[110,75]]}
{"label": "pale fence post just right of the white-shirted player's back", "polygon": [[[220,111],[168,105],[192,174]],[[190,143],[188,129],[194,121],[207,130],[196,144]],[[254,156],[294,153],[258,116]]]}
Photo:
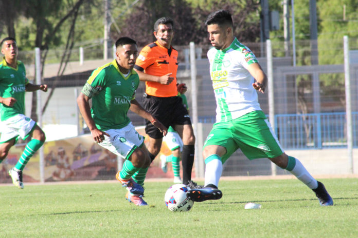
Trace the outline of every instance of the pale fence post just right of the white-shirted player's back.
{"label": "pale fence post just right of the white-shirted player's back", "polygon": [[[267,91],[268,91],[268,118],[272,129],[275,130],[275,94],[274,94],[274,75],[272,65],[272,47],[271,40],[266,40],[267,57]],[[276,165],[271,163],[271,174],[276,175]]]}

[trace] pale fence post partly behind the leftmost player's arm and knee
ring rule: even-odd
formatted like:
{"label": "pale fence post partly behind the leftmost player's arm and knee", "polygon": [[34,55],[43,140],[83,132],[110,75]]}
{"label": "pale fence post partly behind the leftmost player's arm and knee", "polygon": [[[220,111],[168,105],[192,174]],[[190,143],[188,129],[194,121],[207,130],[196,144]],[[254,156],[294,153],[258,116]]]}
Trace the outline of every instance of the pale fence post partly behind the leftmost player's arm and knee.
{"label": "pale fence post partly behind the leftmost player's arm and knee", "polygon": [[[35,75],[36,75],[36,84],[41,84],[41,53],[40,48],[35,48]],[[37,95],[37,112],[38,112],[38,121],[37,124],[42,128],[42,103],[41,103],[41,90],[36,92]],[[39,149],[40,155],[40,183],[45,182],[45,163],[44,163],[44,147],[41,146]]]}

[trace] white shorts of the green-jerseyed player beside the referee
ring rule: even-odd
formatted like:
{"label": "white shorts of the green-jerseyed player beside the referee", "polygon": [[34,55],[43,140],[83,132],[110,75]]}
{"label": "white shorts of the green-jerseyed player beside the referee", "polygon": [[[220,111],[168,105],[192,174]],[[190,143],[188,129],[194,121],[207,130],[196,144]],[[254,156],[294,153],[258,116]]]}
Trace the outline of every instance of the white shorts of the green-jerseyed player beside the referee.
{"label": "white shorts of the green-jerseyed player beside the referee", "polygon": [[141,146],[144,142],[144,136],[141,136],[135,130],[132,123],[129,123],[121,129],[110,129],[105,132],[107,132],[110,137],[104,135],[104,141],[98,145],[126,160],[131,156],[135,148]]}

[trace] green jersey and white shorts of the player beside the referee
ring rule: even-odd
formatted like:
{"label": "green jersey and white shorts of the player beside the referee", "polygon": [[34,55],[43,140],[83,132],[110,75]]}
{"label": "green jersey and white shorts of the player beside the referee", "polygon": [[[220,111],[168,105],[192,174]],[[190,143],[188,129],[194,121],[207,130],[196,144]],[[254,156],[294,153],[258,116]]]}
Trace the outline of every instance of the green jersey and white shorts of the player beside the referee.
{"label": "green jersey and white shorts of the player beside the referee", "polygon": [[97,128],[110,134],[99,145],[122,158],[144,142],[127,116],[138,85],[138,74],[130,70],[123,75],[114,60],[94,70],[82,89],[92,98],[91,114]]}

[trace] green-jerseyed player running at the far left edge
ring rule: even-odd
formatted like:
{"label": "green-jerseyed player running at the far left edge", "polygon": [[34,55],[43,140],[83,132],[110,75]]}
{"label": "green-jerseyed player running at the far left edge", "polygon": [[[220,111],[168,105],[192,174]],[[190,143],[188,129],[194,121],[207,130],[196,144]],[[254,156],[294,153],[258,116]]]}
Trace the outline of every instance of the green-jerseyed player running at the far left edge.
{"label": "green-jerseyed player running at the far left edge", "polygon": [[1,42],[4,54],[0,63],[0,163],[6,158],[10,148],[19,136],[32,137],[25,147],[20,160],[9,170],[12,183],[24,188],[22,172],[32,155],[45,142],[45,133],[31,118],[25,116],[25,91],[47,91],[47,85],[33,85],[26,77],[25,66],[17,61],[17,45],[12,37]]}

